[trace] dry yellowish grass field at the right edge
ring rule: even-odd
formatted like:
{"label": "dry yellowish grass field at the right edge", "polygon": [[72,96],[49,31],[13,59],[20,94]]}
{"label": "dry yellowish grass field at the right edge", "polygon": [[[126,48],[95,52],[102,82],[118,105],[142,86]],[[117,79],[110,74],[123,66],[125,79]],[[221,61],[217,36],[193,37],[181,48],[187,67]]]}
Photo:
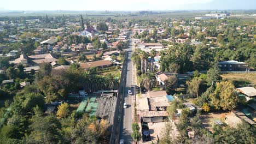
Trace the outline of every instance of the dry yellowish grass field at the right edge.
{"label": "dry yellowish grass field at the right edge", "polygon": [[256,87],[256,73],[254,74],[223,74],[223,80],[231,80],[235,87]]}

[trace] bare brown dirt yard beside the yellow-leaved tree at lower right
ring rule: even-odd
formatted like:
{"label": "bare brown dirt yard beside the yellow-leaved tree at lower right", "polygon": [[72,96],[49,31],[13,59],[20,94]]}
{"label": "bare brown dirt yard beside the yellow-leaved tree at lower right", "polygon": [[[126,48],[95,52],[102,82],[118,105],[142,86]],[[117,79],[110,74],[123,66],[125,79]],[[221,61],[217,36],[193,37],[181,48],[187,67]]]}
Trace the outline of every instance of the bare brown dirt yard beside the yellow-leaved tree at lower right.
{"label": "bare brown dirt yard beside the yellow-leaved tree at lower right", "polygon": [[228,113],[225,113],[225,112],[211,112],[211,113],[202,114],[200,116],[202,126],[205,129],[212,131],[213,120],[219,119],[220,121],[222,121],[225,118],[226,114],[228,114]]}

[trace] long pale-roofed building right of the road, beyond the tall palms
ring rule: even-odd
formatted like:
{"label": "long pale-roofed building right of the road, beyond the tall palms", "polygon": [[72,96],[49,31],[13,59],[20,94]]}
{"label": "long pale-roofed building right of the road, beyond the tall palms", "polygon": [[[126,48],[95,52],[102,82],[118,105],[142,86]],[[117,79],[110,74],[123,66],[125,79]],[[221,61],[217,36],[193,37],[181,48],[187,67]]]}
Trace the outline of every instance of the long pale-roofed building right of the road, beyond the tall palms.
{"label": "long pale-roofed building right of the road, beyond the tall palms", "polygon": [[142,51],[146,51],[146,52],[150,52],[151,50],[155,50],[155,51],[165,50],[164,46],[159,43],[139,43],[138,49],[141,49]]}

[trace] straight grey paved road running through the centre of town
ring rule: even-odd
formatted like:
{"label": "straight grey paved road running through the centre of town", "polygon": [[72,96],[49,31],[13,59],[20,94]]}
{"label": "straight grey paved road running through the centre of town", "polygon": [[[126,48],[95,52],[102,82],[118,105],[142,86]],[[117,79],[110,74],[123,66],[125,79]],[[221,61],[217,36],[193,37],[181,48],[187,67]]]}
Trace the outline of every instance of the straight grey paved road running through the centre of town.
{"label": "straight grey paved road running through the centre of town", "polygon": [[[126,85],[125,85],[125,91],[124,91],[124,103],[127,104],[127,108],[124,109],[123,112],[123,124],[121,124],[121,131],[120,131],[120,139],[124,139],[125,143],[132,143],[132,117],[133,117],[133,96],[134,96],[134,89],[131,88],[131,85],[133,85],[133,67],[132,67],[132,61],[131,61],[131,53],[132,53],[132,43],[130,42],[129,49],[126,49],[128,51],[128,59],[127,59],[127,75],[126,75]],[[132,95],[128,95],[127,90],[130,89],[132,91]]]}

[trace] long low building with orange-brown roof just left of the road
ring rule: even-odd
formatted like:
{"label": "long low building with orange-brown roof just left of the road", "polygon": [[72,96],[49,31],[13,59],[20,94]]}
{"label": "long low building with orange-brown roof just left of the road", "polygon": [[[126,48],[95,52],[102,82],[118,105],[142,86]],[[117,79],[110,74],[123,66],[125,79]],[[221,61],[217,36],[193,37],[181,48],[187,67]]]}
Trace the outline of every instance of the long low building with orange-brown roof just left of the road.
{"label": "long low building with orange-brown roof just left of the road", "polygon": [[112,62],[110,61],[96,61],[96,62],[88,62],[88,63],[80,63],[80,67],[83,69],[89,69],[89,68],[107,68],[111,67]]}

